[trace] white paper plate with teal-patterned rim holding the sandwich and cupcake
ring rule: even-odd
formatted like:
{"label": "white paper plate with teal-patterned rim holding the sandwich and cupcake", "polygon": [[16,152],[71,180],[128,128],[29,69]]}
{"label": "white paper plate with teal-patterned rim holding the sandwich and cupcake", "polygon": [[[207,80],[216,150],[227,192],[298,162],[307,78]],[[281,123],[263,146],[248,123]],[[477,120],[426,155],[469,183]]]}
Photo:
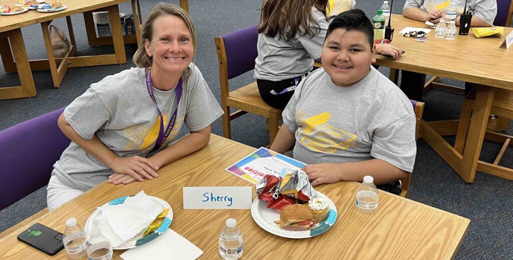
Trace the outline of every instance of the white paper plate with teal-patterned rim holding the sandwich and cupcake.
{"label": "white paper plate with teal-patterned rim holding the sandwich and cupcake", "polygon": [[328,231],[337,221],[337,207],[326,195],[319,191],[317,196],[326,199],[329,206],[328,216],[322,223],[317,223],[312,229],[306,231],[288,231],[281,229],[278,224],[274,223],[280,219],[280,211],[275,209],[268,209],[267,202],[261,201],[258,197],[255,198],[251,205],[251,216],[254,221],[265,231],[282,237],[288,238],[308,238],[316,235],[320,235]]}

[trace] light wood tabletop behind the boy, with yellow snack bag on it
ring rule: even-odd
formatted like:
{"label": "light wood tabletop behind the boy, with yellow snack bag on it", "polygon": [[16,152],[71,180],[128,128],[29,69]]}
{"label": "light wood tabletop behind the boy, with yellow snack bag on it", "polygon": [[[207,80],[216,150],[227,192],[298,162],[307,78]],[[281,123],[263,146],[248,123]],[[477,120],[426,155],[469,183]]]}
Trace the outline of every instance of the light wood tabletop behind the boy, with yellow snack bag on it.
{"label": "light wood tabletop behind the boy, with yellow snack bag on it", "polygon": [[[376,65],[513,90],[513,48],[499,49],[505,36],[476,38],[470,30],[468,35],[448,41],[436,38],[431,30],[428,41],[417,42],[399,31],[408,26],[429,29],[426,24],[396,14],[391,16],[391,24],[395,28],[392,45],[405,53],[397,61],[376,55]],[[511,30],[504,27],[504,35]]]}

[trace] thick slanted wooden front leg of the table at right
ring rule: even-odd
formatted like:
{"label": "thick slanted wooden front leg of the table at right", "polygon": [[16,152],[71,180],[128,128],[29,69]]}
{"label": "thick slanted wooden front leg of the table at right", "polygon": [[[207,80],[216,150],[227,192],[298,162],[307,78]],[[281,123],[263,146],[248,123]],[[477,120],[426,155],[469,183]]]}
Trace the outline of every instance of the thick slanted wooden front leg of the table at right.
{"label": "thick slanted wooden front leg of the table at right", "polygon": [[475,85],[476,101],[473,105],[472,119],[468,128],[467,141],[463,151],[461,168],[458,172],[467,183],[474,181],[478,166],[481,147],[486,132],[491,104],[494,101],[495,89],[483,85]]}

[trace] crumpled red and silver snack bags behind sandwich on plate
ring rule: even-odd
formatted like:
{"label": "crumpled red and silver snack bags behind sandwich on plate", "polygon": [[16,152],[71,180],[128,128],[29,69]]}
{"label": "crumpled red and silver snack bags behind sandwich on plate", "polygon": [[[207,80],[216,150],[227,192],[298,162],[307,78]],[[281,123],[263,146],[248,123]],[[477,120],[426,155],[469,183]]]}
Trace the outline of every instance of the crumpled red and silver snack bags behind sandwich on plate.
{"label": "crumpled red and silver snack bags behind sandwich on plate", "polygon": [[297,204],[298,200],[308,202],[311,197],[317,196],[302,170],[288,171],[285,178],[267,175],[256,187],[259,199],[267,202],[267,208],[276,210]]}

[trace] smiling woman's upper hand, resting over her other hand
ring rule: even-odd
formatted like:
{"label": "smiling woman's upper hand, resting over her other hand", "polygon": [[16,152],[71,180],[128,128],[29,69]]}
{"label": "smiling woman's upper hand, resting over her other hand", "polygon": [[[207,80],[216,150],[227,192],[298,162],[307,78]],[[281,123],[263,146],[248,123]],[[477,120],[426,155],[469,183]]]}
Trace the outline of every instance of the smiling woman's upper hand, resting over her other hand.
{"label": "smiling woman's upper hand, resting over her other hand", "polygon": [[152,179],[159,176],[155,172],[159,167],[151,162],[150,159],[137,155],[129,157],[116,156],[108,164],[108,167],[115,173],[129,175],[140,182],[144,181],[144,178]]}

